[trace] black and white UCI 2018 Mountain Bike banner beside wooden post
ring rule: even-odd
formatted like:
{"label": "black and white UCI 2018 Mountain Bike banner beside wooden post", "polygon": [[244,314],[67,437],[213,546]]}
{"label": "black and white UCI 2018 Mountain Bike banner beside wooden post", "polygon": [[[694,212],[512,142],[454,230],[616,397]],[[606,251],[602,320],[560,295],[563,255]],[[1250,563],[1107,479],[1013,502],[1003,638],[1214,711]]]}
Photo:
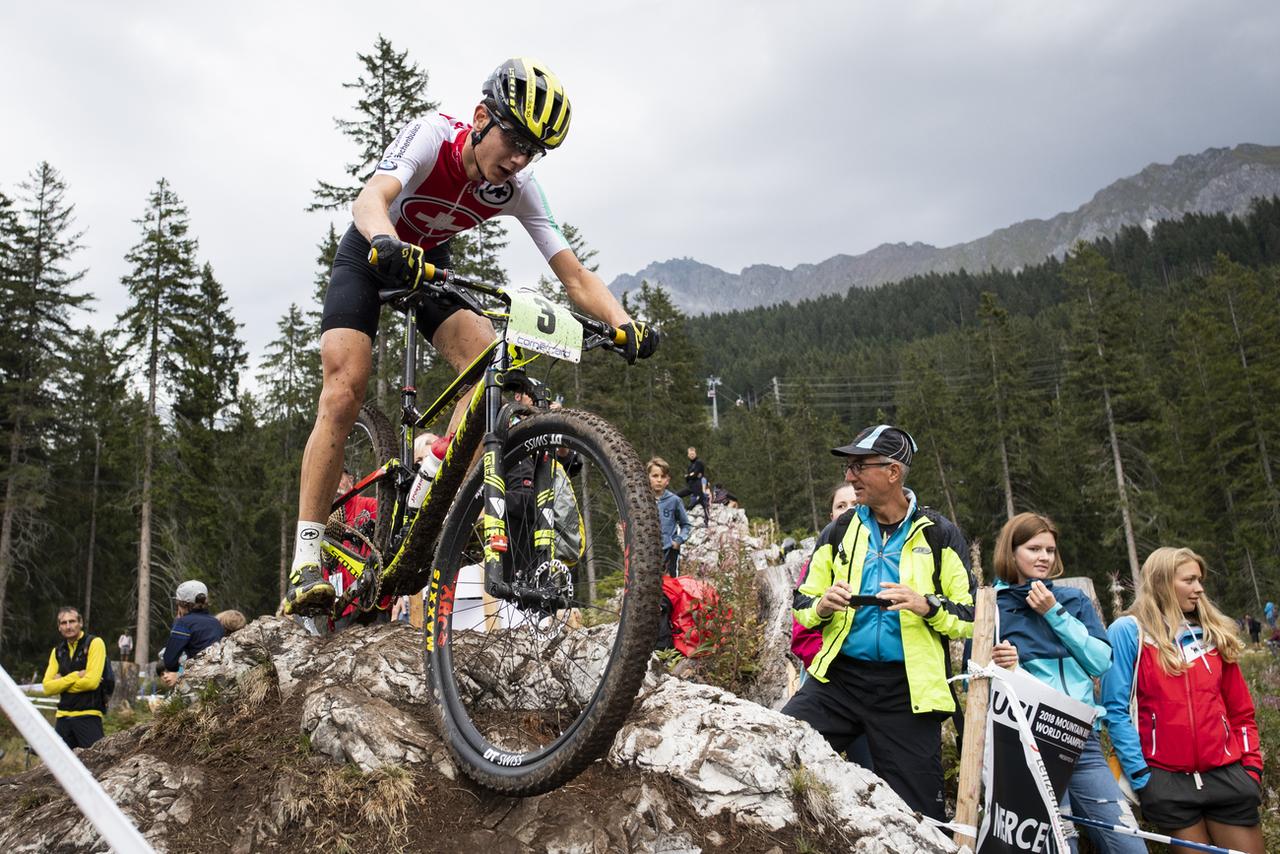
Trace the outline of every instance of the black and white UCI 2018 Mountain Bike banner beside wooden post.
{"label": "black and white UCI 2018 Mountain Bike banner beside wooden post", "polygon": [[[1020,737],[1014,703],[1034,739]],[[1066,854],[1057,802],[1093,731],[1094,709],[1056,691],[1021,668],[991,680],[983,755],[983,817],[979,854],[1033,851]],[[1052,813],[1051,813],[1052,805]]]}

